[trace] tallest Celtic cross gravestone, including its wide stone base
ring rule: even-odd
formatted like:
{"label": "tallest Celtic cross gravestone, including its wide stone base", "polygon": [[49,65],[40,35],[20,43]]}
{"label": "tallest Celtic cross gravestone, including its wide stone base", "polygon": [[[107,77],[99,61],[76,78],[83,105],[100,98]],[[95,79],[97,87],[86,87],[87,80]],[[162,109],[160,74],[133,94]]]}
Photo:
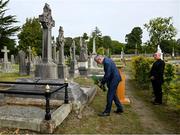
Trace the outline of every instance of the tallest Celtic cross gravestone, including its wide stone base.
{"label": "tallest Celtic cross gravestone, including its wide stone base", "polygon": [[55,22],[51,16],[50,6],[46,3],[43,14],[39,15],[43,28],[42,62],[36,65],[35,77],[41,79],[57,79],[57,64],[52,60],[51,29]]}

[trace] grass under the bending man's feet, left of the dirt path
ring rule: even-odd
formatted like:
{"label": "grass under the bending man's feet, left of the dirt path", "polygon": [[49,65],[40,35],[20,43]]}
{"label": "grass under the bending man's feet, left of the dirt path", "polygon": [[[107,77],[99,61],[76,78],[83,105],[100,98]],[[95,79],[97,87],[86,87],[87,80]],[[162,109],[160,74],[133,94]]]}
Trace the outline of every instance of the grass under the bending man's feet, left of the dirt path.
{"label": "grass under the bending man's feet, left of the dirt path", "polygon": [[[106,93],[98,89],[93,102],[84,108],[82,119],[75,114],[70,116],[56,129],[60,134],[120,134],[145,133],[138,116],[130,105],[125,106],[125,113],[117,115],[111,113],[109,117],[99,117],[106,104]],[[115,110],[113,105],[112,111]]]}

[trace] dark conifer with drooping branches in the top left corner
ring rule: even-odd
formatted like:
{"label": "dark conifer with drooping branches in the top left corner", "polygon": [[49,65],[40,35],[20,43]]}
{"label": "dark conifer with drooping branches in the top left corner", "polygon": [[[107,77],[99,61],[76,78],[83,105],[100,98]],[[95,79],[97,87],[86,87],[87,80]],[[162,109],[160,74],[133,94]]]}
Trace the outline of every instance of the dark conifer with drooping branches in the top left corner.
{"label": "dark conifer with drooping branches in the top left corner", "polygon": [[[16,23],[16,16],[5,15],[5,12],[9,0],[3,1],[0,0],[0,50],[3,46],[7,46],[11,53],[15,53],[15,39],[13,36],[20,29],[19,26],[13,26]],[[3,53],[0,52],[0,57],[3,56]]]}

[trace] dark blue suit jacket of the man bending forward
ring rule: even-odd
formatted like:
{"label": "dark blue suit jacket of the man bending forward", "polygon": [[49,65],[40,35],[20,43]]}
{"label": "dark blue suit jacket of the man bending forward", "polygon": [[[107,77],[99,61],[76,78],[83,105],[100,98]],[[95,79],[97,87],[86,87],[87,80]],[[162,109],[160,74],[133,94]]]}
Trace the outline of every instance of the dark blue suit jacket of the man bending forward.
{"label": "dark blue suit jacket of the man bending forward", "polygon": [[104,72],[105,75],[101,81],[101,83],[104,85],[107,83],[107,86],[110,87],[113,83],[118,83],[121,81],[121,76],[119,74],[119,71],[115,65],[115,63],[110,59],[105,57],[103,60],[104,65]]}

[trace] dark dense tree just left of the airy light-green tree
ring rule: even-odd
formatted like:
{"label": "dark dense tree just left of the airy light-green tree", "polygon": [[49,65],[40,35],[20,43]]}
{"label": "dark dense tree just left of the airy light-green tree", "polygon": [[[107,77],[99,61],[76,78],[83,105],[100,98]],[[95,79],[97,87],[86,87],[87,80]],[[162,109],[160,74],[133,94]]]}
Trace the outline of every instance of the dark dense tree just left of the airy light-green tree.
{"label": "dark dense tree just left of the airy light-green tree", "polygon": [[140,27],[134,27],[131,33],[126,35],[125,37],[125,41],[127,42],[125,48],[126,53],[134,53],[136,51],[138,52],[141,51],[142,33],[143,32]]}

